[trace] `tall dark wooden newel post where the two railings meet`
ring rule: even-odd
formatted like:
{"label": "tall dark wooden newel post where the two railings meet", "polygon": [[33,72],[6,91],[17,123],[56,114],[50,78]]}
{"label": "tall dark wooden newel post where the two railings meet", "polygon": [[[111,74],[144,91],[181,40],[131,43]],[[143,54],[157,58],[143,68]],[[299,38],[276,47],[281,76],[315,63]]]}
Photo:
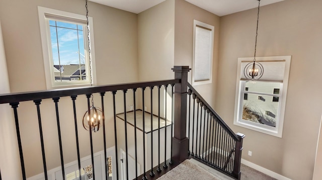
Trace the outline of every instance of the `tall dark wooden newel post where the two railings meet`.
{"label": "tall dark wooden newel post where the two railings meet", "polygon": [[188,138],[186,134],[187,124],[187,87],[189,66],[174,66],[175,79],[181,79],[181,83],[175,85],[174,92],[174,137],[173,157],[177,162],[183,162],[188,158]]}

